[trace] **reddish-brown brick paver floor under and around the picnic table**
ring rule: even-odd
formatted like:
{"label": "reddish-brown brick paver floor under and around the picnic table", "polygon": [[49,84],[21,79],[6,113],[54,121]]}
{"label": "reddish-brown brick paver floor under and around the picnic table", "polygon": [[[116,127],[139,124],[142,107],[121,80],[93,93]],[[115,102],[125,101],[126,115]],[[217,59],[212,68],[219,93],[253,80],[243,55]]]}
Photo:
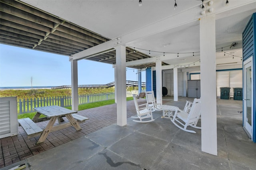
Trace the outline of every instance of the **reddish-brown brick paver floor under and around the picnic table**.
{"label": "reddish-brown brick paver floor under and around the picnic table", "polygon": [[[138,100],[138,104],[144,103],[146,103],[146,99]],[[27,139],[22,127],[18,127],[17,136],[0,139],[0,168],[116,123],[116,104],[78,111],[78,114],[89,118],[89,120],[80,124],[82,130],[76,131],[74,127],[68,127],[49,133],[46,140],[38,145],[36,145],[36,141],[39,136]],[[131,100],[127,102],[127,118],[134,115],[136,115],[136,110],[134,102]],[[48,121],[44,121],[37,123],[37,125],[44,129],[47,123]]]}

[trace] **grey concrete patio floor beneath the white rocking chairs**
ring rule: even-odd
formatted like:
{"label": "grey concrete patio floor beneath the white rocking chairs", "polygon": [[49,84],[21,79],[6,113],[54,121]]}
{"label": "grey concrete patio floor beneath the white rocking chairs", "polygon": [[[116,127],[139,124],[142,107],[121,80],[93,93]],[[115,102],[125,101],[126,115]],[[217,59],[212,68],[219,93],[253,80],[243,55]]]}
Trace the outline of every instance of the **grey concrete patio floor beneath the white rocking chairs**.
{"label": "grey concrete patio floor beneath the white rocking chairs", "polygon": [[[163,103],[183,108],[186,100],[193,98],[179,97],[179,102],[174,102],[172,97],[165,97]],[[128,115],[134,115],[133,101],[127,103]],[[98,107],[97,112],[106,109]],[[242,101],[217,99],[218,156],[201,151],[199,129],[191,128],[196,133],[182,131],[170,119],[161,119],[162,111],[154,111],[155,121],[150,123],[136,123],[132,118],[124,127],[112,123],[2,170],[23,163],[27,170],[255,170],[256,144],[242,128],[242,114],[238,113],[241,110]],[[104,115],[104,119],[108,116]]]}

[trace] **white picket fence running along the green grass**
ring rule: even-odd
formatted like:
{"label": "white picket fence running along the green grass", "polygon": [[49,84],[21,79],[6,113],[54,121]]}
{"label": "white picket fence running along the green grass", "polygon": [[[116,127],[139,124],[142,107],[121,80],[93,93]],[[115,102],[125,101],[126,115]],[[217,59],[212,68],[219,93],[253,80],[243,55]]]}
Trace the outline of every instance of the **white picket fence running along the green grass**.
{"label": "white picket fence running along the green grass", "polygon": [[[138,90],[126,91],[126,97],[131,97],[132,94],[138,94]],[[98,93],[98,94],[81,94],[78,95],[78,101],[80,104],[100,102],[105,100],[115,99],[115,93]],[[58,96],[58,97],[47,97],[47,98],[30,98],[18,101],[18,113],[29,113],[34,112],[34,107],[44,107],[44,106],[71,106],[72,98],[71,96]]]}

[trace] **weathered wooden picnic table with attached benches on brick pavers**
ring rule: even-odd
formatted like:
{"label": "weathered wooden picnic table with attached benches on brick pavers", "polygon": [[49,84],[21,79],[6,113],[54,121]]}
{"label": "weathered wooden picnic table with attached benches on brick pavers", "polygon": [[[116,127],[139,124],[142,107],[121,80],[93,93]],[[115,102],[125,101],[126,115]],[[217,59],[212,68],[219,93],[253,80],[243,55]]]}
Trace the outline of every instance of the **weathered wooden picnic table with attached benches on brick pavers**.
{"label": "weathered wooden picnic table with attached benches on brick pavers", "polygon": [[[87,117],[76,114],[77,111],[66,109],[60,106],[36,107],[34,109],[37,111],[37,113],[33,119],[27,117],[23,119],[18,119],[18,122],[28,135],[28,139],[40,135],[40,138],[38,139],[36,144],[44,142],[50,132],[58,131],[66,127],[73,126],[77,131],[79,131],[81,130],[79,124],[89,119]],[[46,117],[39,118],[41,114],[45,115]],[[69,122],[60,124],[59,121],[59,125],[54,126],[56,119],[64,116],[67,117]],[[46,125],[45,129],[41,129],[35,123],[46,120],[50,121]]]}

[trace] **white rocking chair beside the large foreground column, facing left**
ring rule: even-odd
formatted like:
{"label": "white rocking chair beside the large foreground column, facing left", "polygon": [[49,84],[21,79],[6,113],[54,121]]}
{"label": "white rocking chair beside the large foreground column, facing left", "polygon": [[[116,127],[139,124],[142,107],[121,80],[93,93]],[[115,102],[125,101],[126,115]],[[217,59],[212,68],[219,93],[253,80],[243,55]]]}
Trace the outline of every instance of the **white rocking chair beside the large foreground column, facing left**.
{"label": "white rocking chair beside the large foreground column, facing left", "polygon": [[[186,112],[188,111],[188,112]],[[197,129],[201,129],[201,127],[196,126],[198,119],[201,115],[201,99],[194,99],[194,102],[189,109],[186,109],[186,106],[184,110],[176,109],[173,119],[171,120],[174,125],[176,125],[178,128],[190,132],[190,133],[196,133],[195,131],[188,130],[187,127],[191,126]],[[183,122],[181,122],[183,121]],[[179,125],[176,123],[178,122]]]}

